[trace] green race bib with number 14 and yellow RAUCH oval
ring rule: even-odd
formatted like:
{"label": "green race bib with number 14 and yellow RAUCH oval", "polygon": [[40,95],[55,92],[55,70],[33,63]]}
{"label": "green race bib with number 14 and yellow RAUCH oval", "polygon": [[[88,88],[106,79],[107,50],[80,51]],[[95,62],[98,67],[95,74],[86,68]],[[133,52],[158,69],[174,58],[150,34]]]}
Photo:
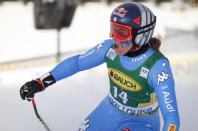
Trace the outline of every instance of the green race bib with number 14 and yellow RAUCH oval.
{"label": "green race bib with number 14 and yellow RAUCH oval", "polygon": [[110,80],[111,104],[131,115],[149,115],[155,112],[159,106],[154,89],[149,87],[147,76],[154,63],[162,58],[165,57],[160,52],[155,52],[139,68],[128,71],[122,67],[119,56],[110,48],[105,61]]}

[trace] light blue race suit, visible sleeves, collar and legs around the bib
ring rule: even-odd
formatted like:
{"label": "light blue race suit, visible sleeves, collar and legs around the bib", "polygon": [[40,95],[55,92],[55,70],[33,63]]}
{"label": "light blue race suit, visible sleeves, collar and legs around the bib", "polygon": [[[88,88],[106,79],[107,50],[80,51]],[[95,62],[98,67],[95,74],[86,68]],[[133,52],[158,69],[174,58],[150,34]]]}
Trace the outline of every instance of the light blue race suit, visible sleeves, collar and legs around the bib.
{"label": "light blue race suit, visible sleeves, collar and legs around the bib", "polygon": [[[79,71],[105,63],[104,57],[113,40],[105,40],[85,54],[65,59],[50,73],[56,81]],[[149,48],[135,56],[119,56],[126,70],[134,70],[144,63],[155,51]],[[163,131],[179,131],[180,119],[175,96],[174,79],[167,59],[158,60],[148,74],[148,84],[154,89],[164,119]],[[79,131],[160,131],[159,110],[147,116],[134,116],[116,109],[108,97],[84,120]]]}

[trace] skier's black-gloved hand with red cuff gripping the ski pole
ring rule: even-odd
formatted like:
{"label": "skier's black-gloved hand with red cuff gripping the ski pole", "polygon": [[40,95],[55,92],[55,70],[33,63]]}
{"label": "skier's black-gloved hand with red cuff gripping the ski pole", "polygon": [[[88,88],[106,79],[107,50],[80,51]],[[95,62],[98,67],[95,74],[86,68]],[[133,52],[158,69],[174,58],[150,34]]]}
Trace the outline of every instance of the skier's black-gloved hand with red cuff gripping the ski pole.
{"label": "skier's black-gloved hand with red cuff gripping the ski pole", "polygon": [[34,94],[44,90],[40,79],[25,83],[20,89],[20,95],[23,100],[34,97]]}

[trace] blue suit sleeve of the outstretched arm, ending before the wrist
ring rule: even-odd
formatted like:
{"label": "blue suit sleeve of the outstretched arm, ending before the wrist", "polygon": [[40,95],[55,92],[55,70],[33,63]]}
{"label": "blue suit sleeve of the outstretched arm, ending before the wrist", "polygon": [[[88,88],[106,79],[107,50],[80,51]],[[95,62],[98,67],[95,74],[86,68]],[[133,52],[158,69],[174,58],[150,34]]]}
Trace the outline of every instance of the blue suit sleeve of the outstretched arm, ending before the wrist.
{"label": "blue suit sleeve of the outstretched arm, ending before the wrist", "polygon": [[56,81],[72,76],[79,71],[88,70],[104,63],[104,55],[112,45],[112,40],[105,40],[85,54],[65,59],[50,71]]}

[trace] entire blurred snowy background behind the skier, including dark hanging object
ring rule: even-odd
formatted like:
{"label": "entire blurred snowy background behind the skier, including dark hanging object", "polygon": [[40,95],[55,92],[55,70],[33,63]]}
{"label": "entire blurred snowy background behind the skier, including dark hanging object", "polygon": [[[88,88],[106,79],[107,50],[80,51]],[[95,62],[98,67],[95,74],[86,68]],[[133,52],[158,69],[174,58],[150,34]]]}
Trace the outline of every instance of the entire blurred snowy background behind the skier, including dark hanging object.
{"label": "entire blurred snowy background behind the skier, including dark hanging object", "polygon": [[[20,87],[108,39],[110,14],[127,1],[0,0],[0,131],[45,130],[31,103],[20,99]],[[175,78],[180,131],[197,131],[198,0],[133,1],[157,16],[155,35],[162,37]],[[35,100],[52,131],[76,131],[108,89],[103,64],[54,84]]]}

